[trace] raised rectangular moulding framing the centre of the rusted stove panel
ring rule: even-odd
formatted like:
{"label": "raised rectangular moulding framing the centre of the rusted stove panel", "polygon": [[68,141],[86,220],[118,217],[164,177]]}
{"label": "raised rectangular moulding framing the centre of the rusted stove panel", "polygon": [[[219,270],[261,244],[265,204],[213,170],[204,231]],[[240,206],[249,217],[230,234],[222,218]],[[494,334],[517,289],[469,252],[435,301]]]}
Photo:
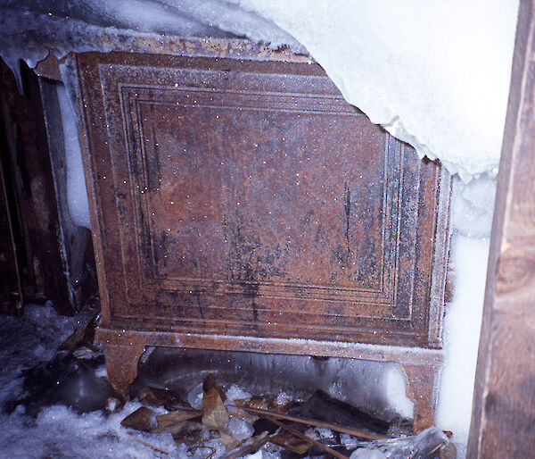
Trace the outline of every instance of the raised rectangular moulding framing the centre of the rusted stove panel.
{"label": "raised rectangular moulding framing the centre of the rusted stove panel", "polygon": [[[209,108],[236,108],[242,109],[240,104],[233,104],[235,97],[240,99],[240,102],[250,107],[251,110],[267,110],[267,111],[281,111],[286,112],[285,104],[282,102],[283,97],[287,97],[287,93],[275,93],[275,92],[249,92],[249,91],[226,91],[226,90],[211,90],[189,88],[179,86],[178,88],[161,88],[161,87],[139,87],[130,85],[119,85],[121,108],[125,118],[125,142],[128,149],[128,161],[130,163],[136,163],[141,165],[141,173],[137,176],[142,181],[136,184],[132,183],[130,186],[131,196],[135,203],[134,208],[144,209],[144,212],[136,215],[136,236],[140,234],[141,228],[144,228],[144,234],[147,240],[139,240],[137,244],[150,246],[149,252],[152,255],[152,265],[149,266],[149,271],[152,272],[152,279],[147,279],[145,273],[141,268],[146,261],[141,257],[138,257],[139,263],[139,280],[144,288],[166,288],[174,290],[177,288],[203,288],[205,291],[212,291],[213,284],[219,284],[222,288],[218,289],[218,293],[240,293],[239,285],[255,285],[259,286],[260,290],[258,296],[268,296],[280,299],[302,299],[307,297],[309,299],[325,299],[329,298],[333,301],[345,301],[353,303],[366,303],[369,302],[370,293],[380,293],[381,298],[374,296],[374,304],[383,303],[385,305],[394,305],[396,302],[397,283],[399,277],[399,271],[394,271],[393,279],[387,279],[385,274],[385,266],[396,265],[398,257],[399,247],[399,221],[401,219],[401,209],[398,205],[399,200],[393,199],[390,194],[399,195],[401,188],[401,181],[403,177],[403,150],[399,148],[391,148],[391,137],[385,133],[384,135],[384,152],[387,156],[384,168],[384,186],[383,186],[383,204],[384,204],[384,218],[382,227],[382,255],[383,260],[381,263],[381,280],[380,284],[383,286],[381,290],[374,290],[369,288],[346,288],[336,287],[333,285],[310,285],[299,284],[290,282],[269,282],[269,281],[235,281],[229,280],[203,280],[193,278],[162,278],[157,275],[156,262],[154,260],[153,250],[153,231],[150,224],[150,219],[145,218],[145,215],[151,214],[150,204],[146,198],[147,194],[145,190],[150,188],[150,171],[147,170],[146,164],[152,163],[150,155],[152,152],[148,152],[145,148],[144,129],[141,114],[142,104],[159,104],[174,106],[180,104],[181,106],[188,107],[209,107]],[[147,90],[150,90],[151,95],[147,94]],[[186,92],[187,91],[187,92]],[[227,100],[228,96],[232,97],[232,102]],[[316,96],[309,94],[292,94],[293,98],[292,108],[289,110],[292,113],[322,113],[322,114],[336,114],[339,116],[363,116],[361,113],[355,111],[341,96]],[[320,106],[317,107],[317,104]],[[317,108],[317,110],[315,109]],[[136,113],[136,119],[131,119],[128,113]],[[138,136],[136,135],[137,133]],[[137,145],[132,145],[128,142],[128,138],[137,137]],[[391,177],[388,171],[388,164],[397,163],[399,165],[399,180],[395,180],[393,189],[391,189]],[[132,166],[131,166],[132,167]],[[387,240],[386,228],[397,228],[396,238],[394,240]],[[388,261],[387,261],[388,260]],[[283,292],[277,290],[277,288],[294,288],[299,295],[284,295]],[[339,298],[336,298],[336,292],[341,292]]]}

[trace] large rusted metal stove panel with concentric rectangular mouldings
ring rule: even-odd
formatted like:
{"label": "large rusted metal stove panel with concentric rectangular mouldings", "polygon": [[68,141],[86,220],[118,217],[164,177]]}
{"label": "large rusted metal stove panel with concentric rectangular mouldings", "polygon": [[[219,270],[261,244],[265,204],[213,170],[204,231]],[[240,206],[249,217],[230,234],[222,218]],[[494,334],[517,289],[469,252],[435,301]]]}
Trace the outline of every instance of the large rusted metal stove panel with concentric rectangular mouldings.
{"label": "large rusted metal stove panel with concentric rectangular mouldings", "polygon": [[[315,63],[185,51],[77,57],[101,342],[408,346],[434,375],[448,175]],[[382,360],[374,349],[365,358]]]}

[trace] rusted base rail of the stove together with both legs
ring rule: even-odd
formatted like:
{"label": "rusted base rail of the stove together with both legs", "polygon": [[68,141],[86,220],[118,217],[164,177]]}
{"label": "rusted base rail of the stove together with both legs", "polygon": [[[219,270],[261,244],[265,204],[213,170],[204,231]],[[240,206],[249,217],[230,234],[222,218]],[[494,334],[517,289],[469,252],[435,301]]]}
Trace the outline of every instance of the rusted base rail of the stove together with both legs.
{"label": "rusted base rail of the stove together with both legs", "polygon": [[128,399],[136,379],[138,359],[146,346],[233,350],[261,354],[317,355],[396,362],[407,383],[407,396],[415,405],[415,431],[434,425],[438,377],[443,363],[439,349],[381,346],[312,339],[251,338],[134,330],[96,330],[106,350],[111,384]]}

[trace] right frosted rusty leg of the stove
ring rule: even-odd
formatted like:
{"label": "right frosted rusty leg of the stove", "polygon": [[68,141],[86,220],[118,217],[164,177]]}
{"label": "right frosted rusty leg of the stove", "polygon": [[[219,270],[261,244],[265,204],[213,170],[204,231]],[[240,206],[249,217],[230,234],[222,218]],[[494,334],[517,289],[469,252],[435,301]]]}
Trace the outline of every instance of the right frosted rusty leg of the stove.
{"label": "right frosted rusty leg of the stove", "polygon": [[414,433],[435,423],[439,367],[402,364],[407,396],[415,405]]}

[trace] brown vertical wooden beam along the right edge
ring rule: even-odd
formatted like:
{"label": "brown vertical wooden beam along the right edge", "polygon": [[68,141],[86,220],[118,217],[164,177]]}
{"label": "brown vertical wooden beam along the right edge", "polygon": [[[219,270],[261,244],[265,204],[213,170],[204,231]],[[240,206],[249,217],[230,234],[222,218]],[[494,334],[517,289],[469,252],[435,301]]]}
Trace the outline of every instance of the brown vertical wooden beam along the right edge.
{"label": "brown vertical wooden beam along the right edge", "polygon": [[468,457],[535,457],[534,33],[521,0]]}

